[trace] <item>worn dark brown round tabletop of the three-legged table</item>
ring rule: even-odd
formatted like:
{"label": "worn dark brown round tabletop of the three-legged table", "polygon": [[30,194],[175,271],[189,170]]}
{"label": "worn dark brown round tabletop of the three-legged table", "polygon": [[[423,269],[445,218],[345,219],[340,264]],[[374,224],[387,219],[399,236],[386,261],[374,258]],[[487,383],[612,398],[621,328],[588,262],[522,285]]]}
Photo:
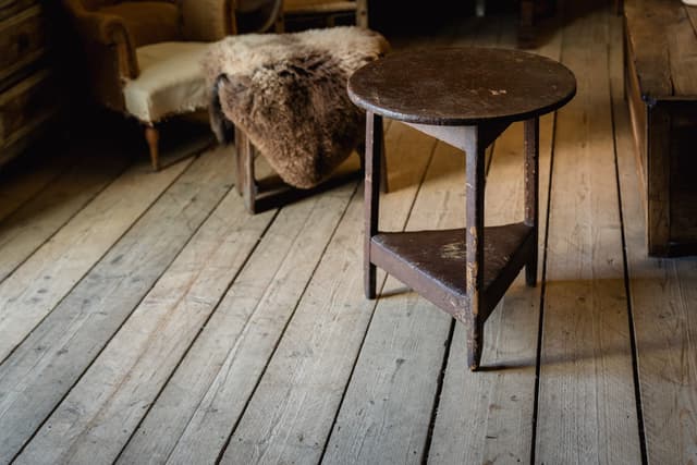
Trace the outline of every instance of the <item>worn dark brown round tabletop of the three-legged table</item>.
{"label": "worn dark brown round tabletop of the three-legged table", "polygon": [[575,94],[576,78],[563,64],[492,48],[396,52],[348,79],[348,95],[358,107],[435,125],[525,120],[562,107]]}

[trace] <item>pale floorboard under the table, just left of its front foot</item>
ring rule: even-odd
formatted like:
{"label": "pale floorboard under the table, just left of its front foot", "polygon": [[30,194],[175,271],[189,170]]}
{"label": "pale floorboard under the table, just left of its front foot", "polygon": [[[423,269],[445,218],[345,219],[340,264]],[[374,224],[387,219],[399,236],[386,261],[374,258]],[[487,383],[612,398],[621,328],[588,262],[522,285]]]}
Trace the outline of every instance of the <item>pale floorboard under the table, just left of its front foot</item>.
{"label": "pale floorboard under the table, just left of its front foot", "polygon": [[[497,45],[501,26],[450,45]],[[438,142],[406,230],[464,225],[464,162],[462,150]],[[376,306],[323,463],[423,461],[452,318],[393,277],[382,293],[389,297]]]}

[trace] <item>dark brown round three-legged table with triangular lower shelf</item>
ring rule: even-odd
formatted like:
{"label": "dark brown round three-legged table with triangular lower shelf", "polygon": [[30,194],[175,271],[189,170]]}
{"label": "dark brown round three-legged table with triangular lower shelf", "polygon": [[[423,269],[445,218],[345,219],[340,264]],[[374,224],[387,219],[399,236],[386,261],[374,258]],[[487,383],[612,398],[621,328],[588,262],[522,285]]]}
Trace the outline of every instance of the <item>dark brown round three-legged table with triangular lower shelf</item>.
{"label": "dark brown round three-legged table with triangular lower shelf", "polygon": [[[562,64],[488,48],[394,53],[348,79],[351,99],[367,112],[366,296],[376,297],[377,266],[465,323],[473,370],[484,323],[523,267],[527,284],[536,284],[539,117],[575,93],[576,79]],[[383,117],[465,151],[465,229],[378,230]],[[485,150],[514,121],[525,121],[525,221],[485,228]]]}

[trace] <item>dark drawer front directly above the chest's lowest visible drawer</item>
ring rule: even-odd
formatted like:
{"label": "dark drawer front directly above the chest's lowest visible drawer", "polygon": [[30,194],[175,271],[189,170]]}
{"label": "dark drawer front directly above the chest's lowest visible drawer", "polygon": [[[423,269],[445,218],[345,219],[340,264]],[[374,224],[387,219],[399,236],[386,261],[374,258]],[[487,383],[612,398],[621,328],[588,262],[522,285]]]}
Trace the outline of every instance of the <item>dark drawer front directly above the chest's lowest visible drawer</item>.
{"label": "dark drawer front directly above the chest's lowest visible drawer", "polygon": [[39,5],[0,22],[0,82],[44,54],[45,29]]}

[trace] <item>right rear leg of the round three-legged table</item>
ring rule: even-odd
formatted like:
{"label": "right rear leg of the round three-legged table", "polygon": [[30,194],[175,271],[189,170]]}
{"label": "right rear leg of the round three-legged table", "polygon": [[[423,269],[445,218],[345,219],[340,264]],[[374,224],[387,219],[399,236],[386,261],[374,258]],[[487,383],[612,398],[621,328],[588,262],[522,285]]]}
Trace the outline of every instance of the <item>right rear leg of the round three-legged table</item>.
{"label": "right rear leg of the round three-legged table", "polygon": [[539,135],[540,120],[525,122],[525,224],[533,227],[533,250],[525,265],[525,282],[537,284],[537,250],[539,231]]}

